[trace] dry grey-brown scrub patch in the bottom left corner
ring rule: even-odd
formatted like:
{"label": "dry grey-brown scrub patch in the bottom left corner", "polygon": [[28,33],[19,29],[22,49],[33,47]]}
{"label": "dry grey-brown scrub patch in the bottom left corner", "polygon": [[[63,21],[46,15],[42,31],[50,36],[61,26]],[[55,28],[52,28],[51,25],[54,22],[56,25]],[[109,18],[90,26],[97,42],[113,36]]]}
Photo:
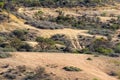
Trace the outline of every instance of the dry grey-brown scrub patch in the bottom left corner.
{"label": "dry grey-brown scrub patch in the bottom left corner", "polygon": [[[6,66],[6,65],[5,65]],[[25,65],[20,65],[16,67],[12,67],[7,65],[7,70],[0,73],[1,79],[6,80],[55,80],[54,76],[50,73],[46,73],[44,67],[37,67],[35,70],[29,69]]]}

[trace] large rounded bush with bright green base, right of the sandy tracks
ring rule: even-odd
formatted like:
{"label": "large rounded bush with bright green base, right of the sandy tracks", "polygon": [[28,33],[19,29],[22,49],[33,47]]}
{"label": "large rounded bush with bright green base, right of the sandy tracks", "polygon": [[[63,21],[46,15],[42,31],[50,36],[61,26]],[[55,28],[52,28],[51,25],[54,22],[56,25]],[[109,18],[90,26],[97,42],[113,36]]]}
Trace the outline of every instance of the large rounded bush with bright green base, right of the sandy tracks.
{"label": "large rounded bush with bright green base, right of the sandy tracks", "polygon": [[113,47],[114,43],[104,38],[92,40],[87,46],[90,51],[107,56],[114,53]]}

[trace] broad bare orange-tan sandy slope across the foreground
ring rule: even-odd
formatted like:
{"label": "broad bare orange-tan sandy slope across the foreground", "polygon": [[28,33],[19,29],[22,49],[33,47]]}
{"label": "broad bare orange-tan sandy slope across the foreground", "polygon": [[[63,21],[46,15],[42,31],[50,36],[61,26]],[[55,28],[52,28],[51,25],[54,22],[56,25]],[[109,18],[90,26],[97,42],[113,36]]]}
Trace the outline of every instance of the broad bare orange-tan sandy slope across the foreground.
{"label": "broad bare orange-tan sandy slope across the foreground", "polygon": [[[93,80],[94,78],[98,80],[118,80],[106,73],[107,70],[110,70],[111,68],[109,61],[114,60],[114,58],[110,57],[93,57],[92,55],[69,53],[15,52],[12,54],[13,57],[11,58],[0,59],[0,65],[26,65],[33,69],[38,66],[43,66],[48,73],[53,73],[59,77],[66,78],[66,80]],[[92,60],[86,60],[88,57],[92,58]],[[119,60],[119,58],[116,58],[115,60]],[[51,66],[57,67],[52,68]],[[82,71],[67,72],[62,69],[65,66],[75,66],[82,69]]]}

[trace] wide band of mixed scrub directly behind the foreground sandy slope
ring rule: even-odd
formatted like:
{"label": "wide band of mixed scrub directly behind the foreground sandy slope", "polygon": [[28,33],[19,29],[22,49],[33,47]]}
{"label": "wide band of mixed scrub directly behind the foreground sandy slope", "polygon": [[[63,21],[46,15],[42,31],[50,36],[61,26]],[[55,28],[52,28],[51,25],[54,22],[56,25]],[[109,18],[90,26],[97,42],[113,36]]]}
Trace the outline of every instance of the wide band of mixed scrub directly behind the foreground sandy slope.
{"label": "wide band of mixed scrub directly behind the foreground sandy slope", "polygon": [[[82,49],[75,49],[65,35],[56,34],[51,38],[43,38],[31,35],[30,30],[14,30],[11,33],[0,34],[0,50],[3,52],[14,51],[44,51],[44,52],[72,52],[95,55],[108,55],[117,57],[119,53],[119,43],[114,43],[111,39],[78,36]],[[34,36],[34,37],[32,37]],[[37,42],[38,45],[32,47],[28,41]],[[59,44],[59,46],[57,45]]]}

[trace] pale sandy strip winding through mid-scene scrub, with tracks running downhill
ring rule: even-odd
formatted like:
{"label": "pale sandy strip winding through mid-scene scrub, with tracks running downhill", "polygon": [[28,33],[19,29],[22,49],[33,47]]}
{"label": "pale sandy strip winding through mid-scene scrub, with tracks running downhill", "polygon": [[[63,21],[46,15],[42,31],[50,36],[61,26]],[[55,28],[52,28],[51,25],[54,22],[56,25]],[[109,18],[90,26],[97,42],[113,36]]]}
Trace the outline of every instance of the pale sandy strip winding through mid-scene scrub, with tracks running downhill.
{"label": "pale sandy strip winding through mid-scene scrub, with tracks running downhill", "polygon": [[[6,12],[4,12],[4,14],[7,14]],[[64,34],[66,35],[73,47],[75,49],[81,49],[79,41],[78,41],[78,35],[82,35],[82,36],[86,36],[86,37],[96,37],[96,38],[101,38],[105,36],[101,36],[101,35],[91,35],[88,34],[88,30],[77,30],[77,29],[68,29],[68,28],[64,28],[64,29],[55,29],[55,30],[50,30],[50,29],[38,29],[35,28],[34,26],[30,26],[27,24],[24,24],[24,20],[21,18],[17,18],[15,15],[10,14],[10,19],[11,22],[7,23],[4,22],[2,24],[0,24],[0,30],[2,32],[9,32],[9,31],[13,31],[15,29],[30,29],[32,32],[36,33],[37,36],[41,36],[41,37],[45,37],[45,38],[50,38],[51,36],[54,36],[56,34]]]}

